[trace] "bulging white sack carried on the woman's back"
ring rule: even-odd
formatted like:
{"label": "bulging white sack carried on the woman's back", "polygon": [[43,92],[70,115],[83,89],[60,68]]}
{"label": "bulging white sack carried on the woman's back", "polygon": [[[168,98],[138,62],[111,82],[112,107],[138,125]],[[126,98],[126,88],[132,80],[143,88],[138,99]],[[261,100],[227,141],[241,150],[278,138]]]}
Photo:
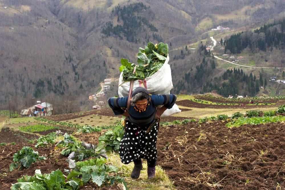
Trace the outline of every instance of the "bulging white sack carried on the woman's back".
{"label": "bulging white sack carried on the woman's back", "polygon": [[[169,94],[170,90],[173,88],[171,69],[170,65],[168,64],[168,61],[169,61],[169,56],[167,55],[166,60],[162,65],[162,67],[152,76],[146,77],[144,79],[146,83],[146,88],[150,94],[156,94],[156,95]],[[141,86],[144,87],[143,81],[140,79],[136,80],[133,83],[133,90]],[[127,82],[123,81],[123,72],[122,72],[119,78],[119,89],[118,89],[119,97],[128,96],[129,89],[130,89],[130,81]],[[178,108],[176,104],[174,104],[171,109],[167,109],[166,111],[164,111],[161,117],[167,117],[180,112],[181,110]]]}

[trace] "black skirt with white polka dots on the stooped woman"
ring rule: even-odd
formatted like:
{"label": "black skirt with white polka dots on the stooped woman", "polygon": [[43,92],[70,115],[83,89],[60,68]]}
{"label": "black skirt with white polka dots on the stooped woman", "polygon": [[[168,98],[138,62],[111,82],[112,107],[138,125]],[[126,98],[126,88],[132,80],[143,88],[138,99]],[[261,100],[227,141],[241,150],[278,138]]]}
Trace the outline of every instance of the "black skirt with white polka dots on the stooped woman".
{"label": "black skirt with white polka dots on the stooped woman", "polygon": [[158,126],[159,121],[152,125],[146,133],[148,127],[138,127],[130,121],[126,121],[125,133],[119,148],[121,162],[128,164],[139,158],[156,160]]}

